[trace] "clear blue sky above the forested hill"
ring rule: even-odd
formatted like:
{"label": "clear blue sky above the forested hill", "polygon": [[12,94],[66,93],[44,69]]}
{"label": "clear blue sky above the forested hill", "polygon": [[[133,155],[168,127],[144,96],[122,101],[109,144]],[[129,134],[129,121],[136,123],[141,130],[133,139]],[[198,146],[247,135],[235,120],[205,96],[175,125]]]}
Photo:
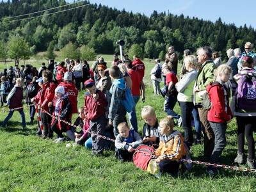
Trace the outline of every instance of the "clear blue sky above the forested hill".
{"label": "clear blue sky above the forested hill", "polygon": [[243,3],[241,0],[90,0],[90,3],[101,3],[118,10],[125,9],[128,12],[144,13],[147,16],[156,10],[166,13],[169,11],[174,15],[183,14],[185,17],[198,17],[212,22],[221,17],[222,22],[226,24],[234,23],[237,27],[246,24],[256,29],[255,0],[248,3],[246,1]]}

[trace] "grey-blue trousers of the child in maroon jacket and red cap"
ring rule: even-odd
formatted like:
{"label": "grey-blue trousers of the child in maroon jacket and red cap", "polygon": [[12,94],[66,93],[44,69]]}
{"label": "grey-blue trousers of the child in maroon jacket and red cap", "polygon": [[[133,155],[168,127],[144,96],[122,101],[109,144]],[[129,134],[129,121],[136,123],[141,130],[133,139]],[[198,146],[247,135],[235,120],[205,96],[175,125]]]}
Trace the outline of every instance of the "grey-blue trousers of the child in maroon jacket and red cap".
{"label": "grey-blue trousers of the child in maroon jacket and red cap", "polygon": [[93,154],[102,154],[105,146],[105,140],[97,134],[103,136],[107,125],[105,115],[100,116],[96,120],[90,120],[90,131],[92,136],[92,152]]}

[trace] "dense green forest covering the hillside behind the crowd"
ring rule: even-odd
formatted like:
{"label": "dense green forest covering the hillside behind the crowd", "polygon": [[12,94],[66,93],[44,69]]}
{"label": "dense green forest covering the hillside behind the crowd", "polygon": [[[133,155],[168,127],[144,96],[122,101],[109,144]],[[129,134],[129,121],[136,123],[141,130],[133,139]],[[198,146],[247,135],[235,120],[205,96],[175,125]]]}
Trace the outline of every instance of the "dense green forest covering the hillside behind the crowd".
{"label": "dense green forest covering the hillside behind the crowd", "polygon": [[[163,58],[168,46],[173,45],[179,56],[184,49],[192,52],[196,48],[209,45],[219,51],[223,58],[229,48],[243,50],[245,42],[255,44],[255,29],[251,26],[225,24],[198,18],[173,15],[154,11],[150,17],[140,13],[116,10],[101,4],[90,4],[67,12],[47,15],[65,10],[89,1],[61,7],[44,12],[43,17],[12,22],[7,17],[38,12],[48,8],[67,4],[60,0],[12,0],[0,3],[0,41],[6,44],[13,36],[20,36],[29,46],[31,53],[54,49],[60,51],[67,44],[75,47],[90,47],[101,54],[118,51],[116,41],[125,40],[125,52],[140,51],[141,57]],[[36,13],[33,16],[40,15]],[[32,15],[29,15],[32,16]],[[6,17],[6,18],[5,18]],[[17,19],[20,19],[17,18]],[[0,50],[1,51],[1,50]],[[0,54],[3,58],[3,51]]]}

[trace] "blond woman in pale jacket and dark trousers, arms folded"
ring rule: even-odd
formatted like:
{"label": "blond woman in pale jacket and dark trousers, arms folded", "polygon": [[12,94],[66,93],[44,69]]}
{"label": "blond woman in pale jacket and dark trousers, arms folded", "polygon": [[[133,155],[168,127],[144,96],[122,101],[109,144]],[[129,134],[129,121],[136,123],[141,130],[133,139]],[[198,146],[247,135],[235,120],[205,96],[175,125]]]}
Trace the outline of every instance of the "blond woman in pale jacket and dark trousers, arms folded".
{"label": "blond woman in pale jacket and dark trousers, arms folded", "polygon": [[[193,144],[193,132],[191,126],[191,114],[194,107],[193,104],[193,87],[197,77],[196,67],[198,62],[195,56],[189,55],[184,58],[186,74],[176,84],[176,89],[179,92],[177,100],[180,104],[182,128],[185,134],[185,143],[190,148]],[[200,138],[198,138],[200,139]]]}

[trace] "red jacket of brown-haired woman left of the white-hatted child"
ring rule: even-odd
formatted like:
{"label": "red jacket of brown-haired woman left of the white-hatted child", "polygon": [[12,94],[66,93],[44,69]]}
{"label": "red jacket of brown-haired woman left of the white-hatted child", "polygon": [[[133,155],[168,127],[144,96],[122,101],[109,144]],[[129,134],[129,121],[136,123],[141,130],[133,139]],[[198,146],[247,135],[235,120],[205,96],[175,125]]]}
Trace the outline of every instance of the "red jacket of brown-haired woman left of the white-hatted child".
{"label": "red jacket of brown-haired woman left of the white-hatted child", "polygon": [[40,105],[45,111],[49,111],[48,103],[54,99],[55,88],[56,84],[54,83],[44,83],[42,90],[34,97],[36,104]]}

